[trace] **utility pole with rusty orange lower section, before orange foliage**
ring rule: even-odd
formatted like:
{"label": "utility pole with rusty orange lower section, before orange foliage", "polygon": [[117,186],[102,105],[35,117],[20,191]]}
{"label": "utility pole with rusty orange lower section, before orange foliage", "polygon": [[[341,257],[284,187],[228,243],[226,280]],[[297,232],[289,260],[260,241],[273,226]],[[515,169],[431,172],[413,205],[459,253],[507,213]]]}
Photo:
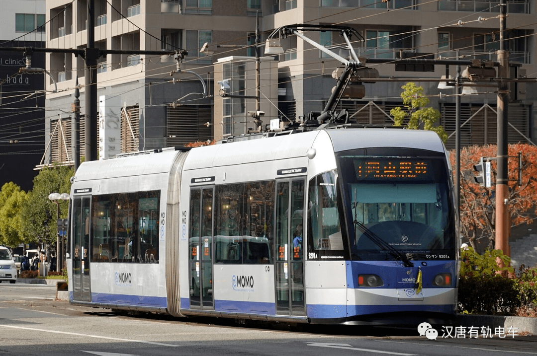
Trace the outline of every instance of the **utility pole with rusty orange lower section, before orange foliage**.
{"label": "utility pole with rusty orange lower section, before orange foliage", "polygon": [[[500,49],[498,55],[498,78],[509,76],[509,53],[506,50],[507,0],[500,0]],[[507,172],[507,109],[509,107],[509,87],[506,81],[498,82],[497,97],[497,175],[496,175],[496,246],[510,256],[509,250],[509,175]]]}

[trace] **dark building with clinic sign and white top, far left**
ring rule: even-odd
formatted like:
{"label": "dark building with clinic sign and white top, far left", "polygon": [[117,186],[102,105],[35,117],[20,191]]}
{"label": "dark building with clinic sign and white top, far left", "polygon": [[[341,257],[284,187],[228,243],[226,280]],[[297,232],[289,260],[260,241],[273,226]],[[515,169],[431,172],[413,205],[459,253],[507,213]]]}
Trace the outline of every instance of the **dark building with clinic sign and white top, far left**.
{"label": "dark building with clinic sign and white top, far left", "polygon": [[[24,53],[6,48],[45,46],[45,0],[0,0],[0,9],[0,187],[28,191],[44,151],[45,73],[19,73]],[[31,66],[44,69],[45,55],[35,53]]]}

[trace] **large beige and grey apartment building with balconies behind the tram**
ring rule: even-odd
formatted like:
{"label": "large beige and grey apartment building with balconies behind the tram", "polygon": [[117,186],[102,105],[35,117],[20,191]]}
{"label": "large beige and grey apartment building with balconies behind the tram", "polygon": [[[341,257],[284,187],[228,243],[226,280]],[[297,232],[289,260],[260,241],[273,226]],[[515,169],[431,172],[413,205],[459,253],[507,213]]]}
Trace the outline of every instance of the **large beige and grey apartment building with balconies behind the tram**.
{"label": "large beige and grey apartment building with balconies behind the tram", "polygon": [[[537,76],[536,3],[508,2],[509,61],[519,63],[511,70],[513,77]],[[87,46],[87,6],[86,0],[47,1],[48,48]],[[294,120],[320,111],[336,83],[332,71],[340,66],[294,35],[281,39],[284,53],[265,55],[261,47],[256,56],[258,26],[262,45],[269,35],[279,36],[281,26],[339,24],[360,34],[360,38],[352,38],[360,57],[396,59],[419,53],[427,58],[496,60],[498,14],[498,1],[480,0],[95,0],[95,47],[125,51],[98,60],[99,105],[108,110],[100,115],[112,115],[117,121],[121,152],[240,135],[256,128],[249,113],[257,107],[265,113],[262,127],[271,119]],[[304,34],[349,56],[337,32]],[[127,53],[159,49],[179,53],[185,49],[188,55],[178,63],[173,55]],[[57,86],[56,93],[47,94],[47,116],[51,118],[46,128],[51,147],[47,160],[69,161],[77,82],[82,115],[85,110],[85,62],[82,56],[57,52],[47,54],[47,63],[52,75],[47,89]],[[442,113],[446,131],[455,130],[455,99],[450,96],[454,88],[439,89],[439,83],[419,78],[440,78],[446,70],[455,77],[456,66],[373,65],[382,78],[410,78],[423,86],[431,106]],[[219,82],[223,80],[233,84],[229,88],[233,97],[222,97]],[[403,84],[396,80],[366,84],[364,98],[342,100],[338,105],[361,123],[389,124],[387,113],[401,105]],[[510,142],[535,142],[537,138],[534,85],[510,86]],[[478,94],[468,93],[461,99],[462,144],[496,143],[495,88],[475,91]],[[82,140],[84,131],[82,120]],[[447,146],[454,146],[454,136]]]}

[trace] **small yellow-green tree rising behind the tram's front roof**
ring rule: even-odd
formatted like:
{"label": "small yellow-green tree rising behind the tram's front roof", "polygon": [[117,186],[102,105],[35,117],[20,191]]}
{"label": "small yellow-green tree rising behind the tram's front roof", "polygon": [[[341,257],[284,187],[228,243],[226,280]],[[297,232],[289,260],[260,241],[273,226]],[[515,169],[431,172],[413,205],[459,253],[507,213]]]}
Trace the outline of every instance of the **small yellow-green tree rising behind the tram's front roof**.
{"label": "small yellow-green tree rising behind the tram's front roof", "polygon": [[[437,109],[426,107],[430,100],[423,94],[423,87],[409,82],[401,88],[404,90],[401,93],[404,109],[398,106],[390,110],[390,115],[394,117],[394,126],[405,126],[412,130],[434,131],[443,142],[446,142],[447,133],[444,128],[434,125],[440,120],[440,112]],[[408,122],[405,125],[407,117]]]}

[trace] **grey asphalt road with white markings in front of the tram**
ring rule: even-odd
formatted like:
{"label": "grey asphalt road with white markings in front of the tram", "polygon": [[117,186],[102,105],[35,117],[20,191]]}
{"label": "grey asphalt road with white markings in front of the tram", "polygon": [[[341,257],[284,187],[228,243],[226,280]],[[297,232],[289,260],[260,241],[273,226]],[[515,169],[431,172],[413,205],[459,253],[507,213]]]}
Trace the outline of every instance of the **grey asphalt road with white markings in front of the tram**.
{"label": "grey asphalt road with white markings in front of the tram", "polygon": [[54,296],[54,286],[0,284],[0,355],[537,355],[537,336],[434,340],[417,330],[117,315]]}

